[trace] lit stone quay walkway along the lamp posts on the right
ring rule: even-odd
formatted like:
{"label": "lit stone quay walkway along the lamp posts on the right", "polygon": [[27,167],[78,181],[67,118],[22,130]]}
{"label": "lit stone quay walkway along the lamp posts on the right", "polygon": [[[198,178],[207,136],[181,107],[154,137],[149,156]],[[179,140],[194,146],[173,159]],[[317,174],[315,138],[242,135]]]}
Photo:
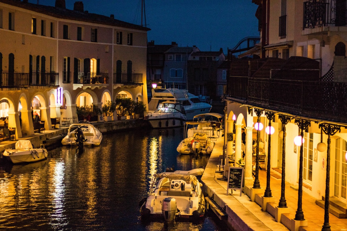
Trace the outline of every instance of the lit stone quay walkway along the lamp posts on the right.
{"label": "lit stone quay walkway along the lamp posts on the right", "polygon": [[[240,196],[239,190],[229,189],[227,192],[227,181],[218,180],[222,178],[221,173],[216,173],[219,170],[217,165],[220,164],[220,155],[223,153],[223,138],[219,138],[215,143],[213,152],[211,153],[209,162],[205,168],[201,178],[203,189],[206,197],[213,200],[219,207],[224,210],[227,224],[236,231],[321,231],[324,223],[324,209],[315,204],[315,198],[303,192],[302,209],[304,218],[307,221],[307,226],[295,227],[295,212],[297,210],[298,191],[295,187],[291,187],[286,182],[285,197],[289,213],[283,213],[281,222],[276,222],[274,215],[275,207],[278,206],[281,197],[281,177],[277,172],[271,173],[270,188],[274,202],[268,203],[266,211],[262,210],[259,201],[262,194],[256,194],[254,202],[250,197],[242,193]],[[325,179],[324,179],[325,180]],[[260,186],[266,188],[266,171],[259,170]],[[246,185],[246,192],[252,185]],[[248,189],[247,189],[248,188]],[[258,203],[259,204],[258,204]],[[267,212],[268,211],[268,212]],[[347,219],[339,219],[333,214],[329,214],[329,223],[331,230],[347,230]]]}

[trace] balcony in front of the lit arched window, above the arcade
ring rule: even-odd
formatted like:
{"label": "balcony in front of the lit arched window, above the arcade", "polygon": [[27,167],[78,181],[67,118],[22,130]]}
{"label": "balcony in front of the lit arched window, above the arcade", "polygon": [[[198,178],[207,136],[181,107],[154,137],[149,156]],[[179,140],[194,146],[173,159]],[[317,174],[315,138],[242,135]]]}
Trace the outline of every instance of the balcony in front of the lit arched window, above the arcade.
{"label": "balcony in front of the lit arched window, above the arcade", "polygon": [[75,72],[74,73],[74,89],[88,87],[95,89],[97,87],[105,87],[108,85],[108,73],[91,73]]}

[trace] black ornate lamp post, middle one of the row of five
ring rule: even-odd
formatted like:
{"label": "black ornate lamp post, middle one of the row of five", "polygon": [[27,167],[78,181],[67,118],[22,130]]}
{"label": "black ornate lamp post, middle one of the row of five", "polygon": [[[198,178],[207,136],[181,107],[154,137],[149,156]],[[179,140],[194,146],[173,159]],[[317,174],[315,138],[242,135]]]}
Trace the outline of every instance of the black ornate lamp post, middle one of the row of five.
{"label": "black ornate lamp post, middle one of the row of five", "polygon": [[281,179],[281,198],[278,203],[279,208],[287,208],[287,201],[285,197],[286,189],[286,125],[290,121],[289,116],[279,115],[278,118],[282,122],[282,179]]}

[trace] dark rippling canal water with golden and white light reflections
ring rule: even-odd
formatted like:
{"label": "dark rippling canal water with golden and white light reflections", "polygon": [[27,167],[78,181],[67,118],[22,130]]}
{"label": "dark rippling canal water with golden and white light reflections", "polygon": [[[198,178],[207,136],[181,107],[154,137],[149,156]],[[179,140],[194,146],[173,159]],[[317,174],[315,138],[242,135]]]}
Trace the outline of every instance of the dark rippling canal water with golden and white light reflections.
{"label": "dark rippling canal water with golden and white light reflections", "polygon": [[183,128],[106,134],[100,146],[49,148],[48,159],[0,166],[0,230],[228,230],[208,215],[200,222],[142,220],[139,201],[154,173],[190,170],[209,157],[180,155]]}

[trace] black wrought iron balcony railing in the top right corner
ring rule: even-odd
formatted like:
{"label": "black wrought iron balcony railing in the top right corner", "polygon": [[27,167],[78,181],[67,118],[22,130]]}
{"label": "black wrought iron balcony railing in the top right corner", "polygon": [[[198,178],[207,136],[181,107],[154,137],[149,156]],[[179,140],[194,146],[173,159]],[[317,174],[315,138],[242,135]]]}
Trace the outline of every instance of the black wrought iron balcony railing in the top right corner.
{"label": "black wrought iron balcony railing in the top right corner", "polygon": [[309,0],[304,2],[303,29],[327,25],[347,26],[347,0]]}

